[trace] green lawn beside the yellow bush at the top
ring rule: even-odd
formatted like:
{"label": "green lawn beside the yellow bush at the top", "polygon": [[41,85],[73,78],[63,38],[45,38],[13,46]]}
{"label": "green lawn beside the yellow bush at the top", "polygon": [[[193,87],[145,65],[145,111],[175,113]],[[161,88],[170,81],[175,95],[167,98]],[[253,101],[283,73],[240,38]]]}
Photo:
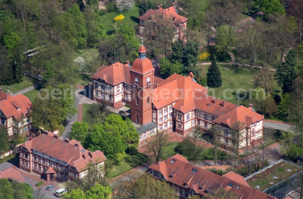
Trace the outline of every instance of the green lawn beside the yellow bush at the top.
{"label": "green lawn beside the yellow bush at the top", "polygon": [[118,15],[123,15],[125,18],[122,20],[124,22],[131,23],[133,26],[136,26],[139,24],[139,8],[137,6],[134,6],[131,10],[127,12],[108,12],[105,15],[102,15],[102,24],[105,29],[105,33],[110,35],[112,34],[112,24],[115,23],[114,17]]}

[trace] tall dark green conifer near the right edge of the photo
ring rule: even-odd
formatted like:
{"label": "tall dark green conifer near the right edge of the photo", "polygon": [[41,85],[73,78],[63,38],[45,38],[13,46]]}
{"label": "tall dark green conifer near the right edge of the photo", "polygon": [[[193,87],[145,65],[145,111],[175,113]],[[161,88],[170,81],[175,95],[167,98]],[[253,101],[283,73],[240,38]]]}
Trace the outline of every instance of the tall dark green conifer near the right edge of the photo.
{"label": "tall dark green conifer near the right edge of the photo", "polygon": [[284,93],[291,90],[292,81],[297,77],[295,71],[296,55],[294,50],[290,50],[285,57],[285,62],[277,66],[277,80]]}

